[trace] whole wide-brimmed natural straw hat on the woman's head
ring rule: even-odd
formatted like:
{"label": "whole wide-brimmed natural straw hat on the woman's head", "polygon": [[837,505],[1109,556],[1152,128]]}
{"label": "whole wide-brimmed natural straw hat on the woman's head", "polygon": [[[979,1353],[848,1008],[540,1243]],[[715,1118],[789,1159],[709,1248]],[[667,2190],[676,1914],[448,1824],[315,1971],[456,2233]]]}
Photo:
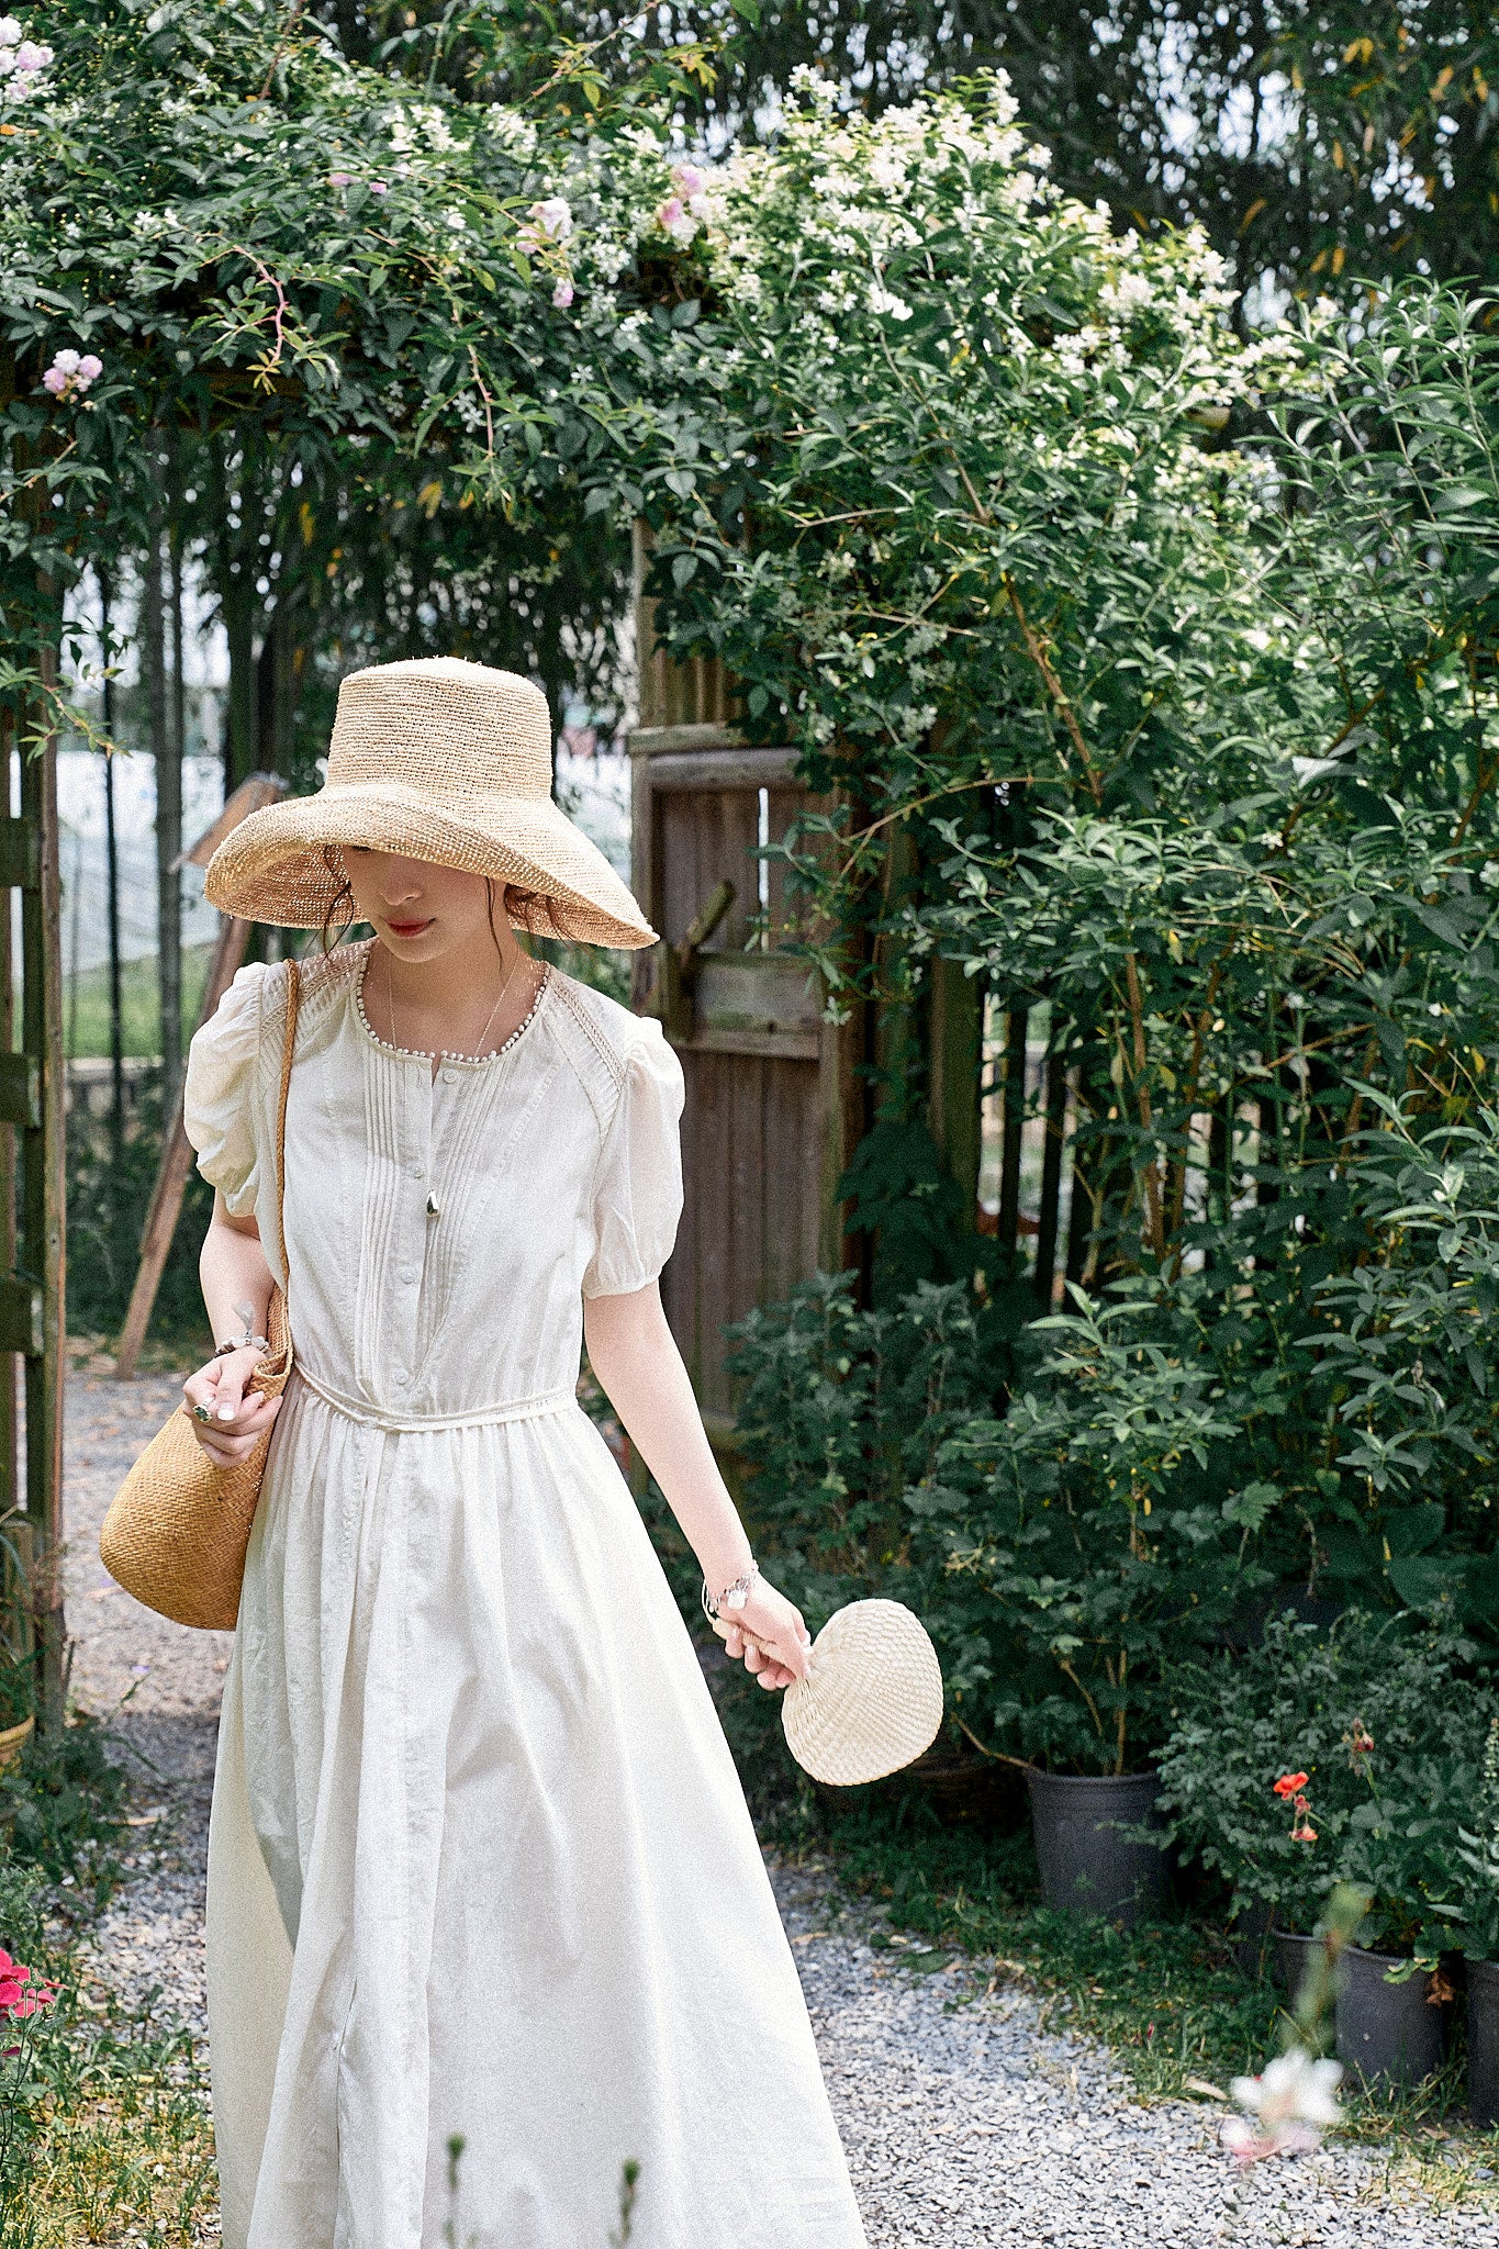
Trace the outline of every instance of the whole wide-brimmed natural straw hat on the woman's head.
{"label": "whole wide-brimmed natural straw hat on the woman's head", "polygon": [[339,846],[398,852],[510,884],[510,920],[582,945],[654,945],[605,855],[551,794],[546,697],[517,672],[423,657],[371,663],[339,688],[328,778],[252,812],[225,837],[209,904],[252,922],[321,929],[348,906]]}

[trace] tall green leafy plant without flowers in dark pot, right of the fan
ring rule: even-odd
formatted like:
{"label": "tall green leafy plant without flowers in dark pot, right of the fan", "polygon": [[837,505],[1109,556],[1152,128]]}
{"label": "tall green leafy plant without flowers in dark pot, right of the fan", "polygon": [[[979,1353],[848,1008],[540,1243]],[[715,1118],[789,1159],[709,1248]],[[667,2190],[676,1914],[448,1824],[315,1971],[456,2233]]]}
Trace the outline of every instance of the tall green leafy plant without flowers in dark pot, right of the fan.
{"label": "tall green leafy plant without flowers in dark pot, right of the fan", "polygon": [[1133,1921],[1166,1885],[1146,1828],[1171,1658],[1263,1577],[1184,1473],[1232,1435],[1211,1367],[1135,1338],[1144,1298],[1072,1295],[1034,1322],[1032,1385],[942,1446],[921,1505],[946,1505],[946,1568],[989,1610],[989,1729],[1025,1754],[1047,1905]]}

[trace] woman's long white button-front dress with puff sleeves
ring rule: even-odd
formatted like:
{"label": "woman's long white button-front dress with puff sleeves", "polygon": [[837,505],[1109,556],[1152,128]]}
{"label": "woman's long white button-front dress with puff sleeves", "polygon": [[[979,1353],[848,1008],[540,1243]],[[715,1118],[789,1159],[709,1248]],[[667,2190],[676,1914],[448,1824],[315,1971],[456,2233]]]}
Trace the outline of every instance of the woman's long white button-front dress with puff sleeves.
{"label": "woman's long white button-front dress with puff sleeves", "polygon": [[[297,1372],[209,1835],[225,2245],[607,2249],[634,2157],[632,2249],[863,2249],[712,1698],[573,1394],[582,1298],[672,1248],[681,1068],[548,969],[434,1082],[366,958],[303,969],[288,1107]],[[240,969],[187,1073],[279,1277],[283,1023],[285,969]]]}

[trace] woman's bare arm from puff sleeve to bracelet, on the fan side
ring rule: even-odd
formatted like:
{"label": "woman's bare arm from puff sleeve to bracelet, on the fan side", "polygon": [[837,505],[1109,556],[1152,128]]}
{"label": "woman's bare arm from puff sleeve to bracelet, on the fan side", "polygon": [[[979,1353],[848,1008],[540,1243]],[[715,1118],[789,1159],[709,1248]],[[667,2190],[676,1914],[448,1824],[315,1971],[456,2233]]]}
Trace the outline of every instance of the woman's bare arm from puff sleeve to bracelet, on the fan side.
{"label": "woman's bare arm from puff sleeve to bracelet, on the fan side", "polygon": [[712,1457],[658,1286],[589,1298],[582,1325],[605,1397],[717,1592],[748,1568],[751,1543]]}

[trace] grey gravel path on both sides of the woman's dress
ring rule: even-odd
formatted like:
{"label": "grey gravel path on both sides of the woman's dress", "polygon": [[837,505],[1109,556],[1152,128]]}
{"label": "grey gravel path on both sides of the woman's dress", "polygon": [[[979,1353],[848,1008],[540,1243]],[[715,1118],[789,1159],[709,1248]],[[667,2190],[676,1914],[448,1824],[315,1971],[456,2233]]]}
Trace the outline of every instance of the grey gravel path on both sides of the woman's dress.
{"label": "grey gravel path on both sides of the woman's dress", "polygon": [[[162,1986],[155,2013],[202,2035],[202,1876],[229,1635],[148,1615],[112,1588],[97,1552],[103,1509],[178,1397],[162,1376],[117,1383],[83,1367],[70,1381],[67,1622],[76,1702],[106,1716],[128,1696],[115,1725],[144,1761],[142,1842],[99,1930],[101,1972],[133,1995]],[[1101,2049],[1045,2033],[1038,2004],[991,1961],[921,1972],[899,1943],[874,1950],[879,1916],[838,1903],[816,1862],[773,1864],[771,1878],[870,2249],[1499,2249],[1495,2209],[1438,2209],[1360,2148],[1263,2164],[1234,2211],[1216,2110],[1137,2105]]]}

